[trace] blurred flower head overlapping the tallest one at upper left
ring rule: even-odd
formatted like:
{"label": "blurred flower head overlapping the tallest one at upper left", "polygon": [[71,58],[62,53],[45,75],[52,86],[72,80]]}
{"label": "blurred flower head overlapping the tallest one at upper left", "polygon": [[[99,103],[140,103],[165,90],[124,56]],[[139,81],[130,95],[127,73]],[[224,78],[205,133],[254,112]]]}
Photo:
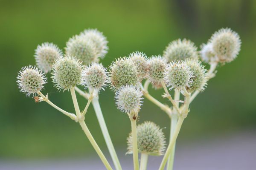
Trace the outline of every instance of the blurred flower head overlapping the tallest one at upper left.
{"label": "blurred flower head overlapping the tallest one at upper left", "polygon": [[81,35],[75,35],[70,38],[66,46],[66,54],[75,56],[83,65],[99,62],[96,46],[91,40],[85,39]]}

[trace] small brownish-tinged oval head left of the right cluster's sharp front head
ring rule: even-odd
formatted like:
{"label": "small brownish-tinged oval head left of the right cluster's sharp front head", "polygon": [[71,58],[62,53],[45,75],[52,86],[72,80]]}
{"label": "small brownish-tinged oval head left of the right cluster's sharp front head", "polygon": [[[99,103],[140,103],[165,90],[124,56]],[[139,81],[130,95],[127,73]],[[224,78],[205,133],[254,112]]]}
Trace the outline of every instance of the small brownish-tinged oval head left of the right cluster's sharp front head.
{"label": "small brownish-tinged oval head left of the right cluster's sharp front head", "polygon": [[153,84],[157,84],[163,80],[164,71],[166,69],[166,59],[159,56],[152,56],[149,59],[149,80]]}

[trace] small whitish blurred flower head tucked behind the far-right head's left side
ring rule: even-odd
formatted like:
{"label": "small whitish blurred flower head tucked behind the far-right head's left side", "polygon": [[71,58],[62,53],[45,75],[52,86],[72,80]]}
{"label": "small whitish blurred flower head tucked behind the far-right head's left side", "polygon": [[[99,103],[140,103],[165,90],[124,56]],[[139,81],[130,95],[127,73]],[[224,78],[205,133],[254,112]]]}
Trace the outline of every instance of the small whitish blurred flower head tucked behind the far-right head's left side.
{"label": "small whitish blurred flower head tucked behind the far-right head's left side", "polygon": [[200,54],[202,61],[206,63],[218,62],[218,57],[213,51],[212,43],[202,44]]}

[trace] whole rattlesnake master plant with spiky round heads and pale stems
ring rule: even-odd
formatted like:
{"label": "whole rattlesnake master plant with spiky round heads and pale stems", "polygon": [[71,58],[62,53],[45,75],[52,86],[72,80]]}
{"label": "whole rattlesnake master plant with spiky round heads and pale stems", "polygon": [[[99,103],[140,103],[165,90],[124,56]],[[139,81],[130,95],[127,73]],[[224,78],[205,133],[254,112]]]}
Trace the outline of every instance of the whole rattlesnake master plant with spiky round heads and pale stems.
{"label": "whole rattlesnake master plant with spiky round heads and pale stems", "polygon": [[[78,122],[106,169],[112,170],[84,122],[87,109],[92,103],[113,164],[116,170],[122,170],[99,104],[100,89],[109,85],[116,94],[114,100],[117,108],[127,113],[131,122],[128,153],[133,153],[134,170],[139,167],[145,170],[149,155],[164,155],[159,170],[164,169],[167,161],[166,170],[172,170],[175,142],[183,121],[188,116],[189,105],[204,91],[207,81],[215,77],[219,63],[224,65],[237,57],[241,48],[239,35],[230,28],[222,28],[206,44],[201,45],[201,51],[197,51],[197,47],[190,40],[179,39],[169,43],[163,57],[158,55],[147,58],[143,52],[132,52],[128,57],[113,61],[109,66],[109,73],[107,68],[98,63],[108,52],[107,43],[106,37],[100,31],[87,29],[68,40],[64,56],[57,45],[48,42],[38,45],[35,50],[38,68],[31,65],[23,67],[17,76],[18,88],[26,96],[32,94],[35,102],[47,102]],[[199,59],[209,64],[209,70],[205,69]],[[45,73],[50,70],[54,86],[58,90],[70,91],[76,114],[64,111],[52,103],[48,95],[42,94],[41,91],[47,83]],[[153,88],[161,89],[160,94],[164,92],[162,96],[172,106],[151,96],[148,92],[150,84]],[[85,90],[76,87],[77,85],[84,86]],[[174,96],[169,93],[172,89],[175,91]],[[87,100],[83,110],[79,108],[75,91]],[[170,118],[170,140],[166,151],[165,137],[159,126],[153,122],[136,125],[143,96]],[[140,165],[138,153],[141,154]]]}

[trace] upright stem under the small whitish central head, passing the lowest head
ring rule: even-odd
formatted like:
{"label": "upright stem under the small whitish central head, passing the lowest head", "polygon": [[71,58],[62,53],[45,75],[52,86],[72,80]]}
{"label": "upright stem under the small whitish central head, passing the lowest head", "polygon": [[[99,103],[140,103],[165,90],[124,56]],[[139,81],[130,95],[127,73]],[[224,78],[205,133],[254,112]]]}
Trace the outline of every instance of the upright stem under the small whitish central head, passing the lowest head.
{"label": "upright stem under the small whitish central head, passing the lowest head", "polygon": [[134,170],[139,170],[137,127],[136,127],[137,116],[135,116],[135,114],[130,114],[130,120],[131,120],[131,136],[132,136]]}

